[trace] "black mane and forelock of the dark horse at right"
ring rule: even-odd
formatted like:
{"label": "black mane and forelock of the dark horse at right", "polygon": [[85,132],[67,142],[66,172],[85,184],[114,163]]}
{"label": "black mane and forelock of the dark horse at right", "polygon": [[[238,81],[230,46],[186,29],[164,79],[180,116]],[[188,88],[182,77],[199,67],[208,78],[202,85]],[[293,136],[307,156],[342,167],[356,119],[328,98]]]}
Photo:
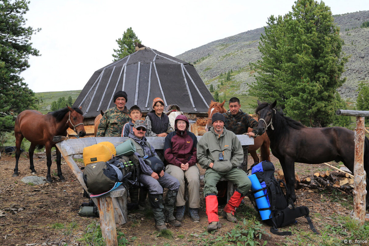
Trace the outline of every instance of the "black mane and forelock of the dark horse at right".
{"label": "black mane and forelock of the dark horse at right", "polygon": [[[269,107],[270,104],[268,103],[261,103],[258,105],[258,107],[255,110],[255,113],[257,114],[260,110],[262,110],[265,107]],[[301,122],[296,121],[290,117],[287,117],[284,112],[281,109],[275,108],[275,113],[273,115],[273,125],[278,125],[278,127],[274,126],[273,134],[280,136],[280,138],[285,138],[290,133],[290,128],[293,129],[302,129],[307,128],[305,125],[303,125]]]}

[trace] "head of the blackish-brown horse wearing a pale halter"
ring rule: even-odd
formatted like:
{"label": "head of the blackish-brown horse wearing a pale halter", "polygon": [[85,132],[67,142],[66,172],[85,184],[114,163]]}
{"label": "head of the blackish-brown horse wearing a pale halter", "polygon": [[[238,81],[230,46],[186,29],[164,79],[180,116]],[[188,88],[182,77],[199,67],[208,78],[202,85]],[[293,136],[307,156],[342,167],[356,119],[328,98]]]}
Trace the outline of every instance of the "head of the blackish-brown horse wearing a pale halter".
{"label": "head of the blackish-brown horse wearing a pale halter", "polygon": [[262,135],[266,129],[270,126],[273,128],[272,121],[273,115],[275,113],[275,106],[277,101],[274,101],[272,104],[262,103],[258,100],[258,107],[255,110],[255,113],[258,115],[259,124],[258,124],[258,135]]}

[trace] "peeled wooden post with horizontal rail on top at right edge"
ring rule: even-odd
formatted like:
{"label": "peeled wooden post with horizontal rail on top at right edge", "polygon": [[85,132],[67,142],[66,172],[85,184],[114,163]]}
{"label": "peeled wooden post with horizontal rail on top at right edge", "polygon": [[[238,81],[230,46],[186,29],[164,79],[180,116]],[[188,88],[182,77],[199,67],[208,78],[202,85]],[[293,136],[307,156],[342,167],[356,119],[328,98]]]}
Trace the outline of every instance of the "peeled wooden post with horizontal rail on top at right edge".
{"label": "peeled wooden post with horizontal rail on top at right edge", "polygon": [[353,217],[364,225],[366,199],[366,173],[364,170],[365,118],[369,111],[337,110],[337,115],[356,116],[354,154],[354,214]]}

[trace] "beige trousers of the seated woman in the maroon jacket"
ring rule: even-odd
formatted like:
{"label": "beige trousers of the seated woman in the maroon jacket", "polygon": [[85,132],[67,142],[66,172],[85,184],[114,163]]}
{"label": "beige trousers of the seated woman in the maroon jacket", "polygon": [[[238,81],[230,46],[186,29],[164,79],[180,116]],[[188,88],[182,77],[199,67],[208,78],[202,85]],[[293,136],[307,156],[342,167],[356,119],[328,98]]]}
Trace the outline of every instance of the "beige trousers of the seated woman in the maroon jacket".
{"label": "beige trousers of the seated woman in the maroon jacket", "polygon": [[200,171],[196,165],[190,166],[186,171],[180,167],[168,164],[166,171],[177,178],[179,181],[179,190],[177,194],[176,206],[183,206],[186,204],[184,200],[184,179],[187,180],[188,186],[188,205],[190,208],[200,208]]}

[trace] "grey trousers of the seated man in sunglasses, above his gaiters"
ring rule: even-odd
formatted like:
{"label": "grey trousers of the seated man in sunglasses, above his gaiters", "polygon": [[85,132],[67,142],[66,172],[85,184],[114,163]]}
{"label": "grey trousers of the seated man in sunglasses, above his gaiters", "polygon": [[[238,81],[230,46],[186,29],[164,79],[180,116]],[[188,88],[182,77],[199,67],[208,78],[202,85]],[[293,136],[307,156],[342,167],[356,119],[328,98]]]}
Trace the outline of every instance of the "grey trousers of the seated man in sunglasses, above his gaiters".
{"label": "grey trousers of the seated man in sunglasses, above his gaiters", "polygon": [[139,181],[148,188],[150,194],[163,194],[163,188],[168,188],[172,191],[178,191],[179,181],[172,175],[164,172],[164,176],[156,180],[150,175],[141,174]]}

